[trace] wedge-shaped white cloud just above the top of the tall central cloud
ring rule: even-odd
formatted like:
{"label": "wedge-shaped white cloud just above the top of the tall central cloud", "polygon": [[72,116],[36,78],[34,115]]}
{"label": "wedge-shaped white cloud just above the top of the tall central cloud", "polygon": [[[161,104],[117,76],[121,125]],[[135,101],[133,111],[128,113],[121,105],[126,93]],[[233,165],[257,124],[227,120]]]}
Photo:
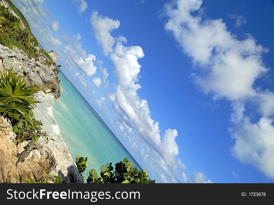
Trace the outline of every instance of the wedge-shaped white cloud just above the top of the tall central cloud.
{"label": "wedge-shaped white cloud just above the top of the tall central cloud", "polygon": [[114,38],[110,35],[113,29],[117,29],[120,26],[120,21],[110,19],[109,17],[98,16],[98,12],[92,12],[90,18],[92,27],[95,31],[95,38],[103,48],[103,53],[107,56],[112,52],[112,46],[114,44]]}

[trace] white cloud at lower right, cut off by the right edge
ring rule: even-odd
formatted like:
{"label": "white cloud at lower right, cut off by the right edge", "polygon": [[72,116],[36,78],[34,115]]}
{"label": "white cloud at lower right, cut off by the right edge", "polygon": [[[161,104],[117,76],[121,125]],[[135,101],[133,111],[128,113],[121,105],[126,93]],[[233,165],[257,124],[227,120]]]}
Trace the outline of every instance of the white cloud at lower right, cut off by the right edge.
{"label": "white cloud at lower right, cut off by the right edge", "polygon": [[[273,103],[273,102],[272,102]],[[257,123],[244,115],[244,106],[233,104],[231,136],[235,139],[233,155],[244,163],[256,166],[274,179],[274,125],[273,118],[261,117]],[[236,117],[235,117],[236,116]]]}

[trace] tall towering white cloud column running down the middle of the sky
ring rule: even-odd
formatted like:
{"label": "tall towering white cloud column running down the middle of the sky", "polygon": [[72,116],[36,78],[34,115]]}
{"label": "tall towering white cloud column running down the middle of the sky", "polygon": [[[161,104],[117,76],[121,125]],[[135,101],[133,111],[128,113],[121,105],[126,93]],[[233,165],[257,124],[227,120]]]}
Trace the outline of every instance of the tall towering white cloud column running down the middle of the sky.
{"label": "tall towering white cloud column running down the middle of the sky", "polygon": [[115,93],[116,110],[120,112],[125,123],[153,149],[144,149],[144,152],[149,152],[153,161],[158,163],[157,166],[165,170],[162,173],[163,181],[175,182],[176,156],[179,153],[175,141],[177,130],[168,128],[160,136],[159,123],[151,119],[147,100],[137,95],[137,90],[141,88],[137,83],[141,68],[138,59],[144,57],[143,49],[140,46],[124,46],[123,42],[126,42],[125,37],[119,37],[113,53],[110,54],[118,84]]}

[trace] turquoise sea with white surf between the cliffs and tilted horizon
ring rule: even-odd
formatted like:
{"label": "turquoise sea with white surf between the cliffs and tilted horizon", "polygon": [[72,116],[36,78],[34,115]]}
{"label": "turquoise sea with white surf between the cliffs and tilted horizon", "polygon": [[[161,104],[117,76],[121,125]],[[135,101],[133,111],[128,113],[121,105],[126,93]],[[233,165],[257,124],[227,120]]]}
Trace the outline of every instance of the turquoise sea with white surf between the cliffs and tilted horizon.
{"label": "turquoise sea with white surf between the cliffs and tilted horizon", "polygon": [[86,182],[88,171],[95,169],[100,173],[100,167],[106,163],[115,163],[125,157],[142,168],[123,147],[116,136],[106,126],[77,89],[69,82],[62,72],[59,72],[60,85],[63,92],[57,101],[53,95],[41,95],[42,102],[34,109],[37,119],[44,122],[43,129],[62,138],[67,144],[70,154],[87,156],[87,169],[83,176]]}

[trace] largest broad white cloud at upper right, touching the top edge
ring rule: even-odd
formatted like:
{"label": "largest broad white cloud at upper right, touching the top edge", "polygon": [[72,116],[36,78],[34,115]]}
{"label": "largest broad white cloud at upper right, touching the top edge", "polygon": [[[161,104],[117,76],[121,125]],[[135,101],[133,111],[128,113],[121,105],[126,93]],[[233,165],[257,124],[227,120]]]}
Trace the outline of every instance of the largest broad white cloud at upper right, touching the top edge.
{"label": "largest broad white cloud at upper right, touching the top edge", "polygon": [[172,31],[184,53],[201,65],[199,73],[193,75],[201,89],[230,100],[255,96],[252,85],[267,72],[262,63],[267,49],[251,36],[238,40],[222,19],[202,21],[200,15],[192,16],[190,12],[201,7],[201,0],[173,3],[165,6],[169,17],[165,29]]}

